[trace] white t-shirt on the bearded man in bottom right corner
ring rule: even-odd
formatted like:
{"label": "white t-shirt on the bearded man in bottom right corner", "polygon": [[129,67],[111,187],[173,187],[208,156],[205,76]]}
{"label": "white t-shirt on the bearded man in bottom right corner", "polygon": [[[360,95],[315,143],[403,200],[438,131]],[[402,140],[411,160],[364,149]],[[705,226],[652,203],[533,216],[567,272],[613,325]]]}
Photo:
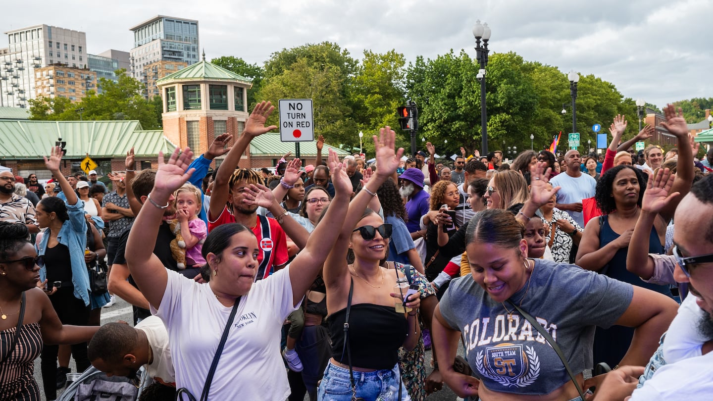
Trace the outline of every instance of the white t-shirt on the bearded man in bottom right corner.
{"label": "white t-shirt on the bearded man in bottom right corner", "polygon": [[713,352],[664,365],[632,393],[630,401],[710,400]]}

